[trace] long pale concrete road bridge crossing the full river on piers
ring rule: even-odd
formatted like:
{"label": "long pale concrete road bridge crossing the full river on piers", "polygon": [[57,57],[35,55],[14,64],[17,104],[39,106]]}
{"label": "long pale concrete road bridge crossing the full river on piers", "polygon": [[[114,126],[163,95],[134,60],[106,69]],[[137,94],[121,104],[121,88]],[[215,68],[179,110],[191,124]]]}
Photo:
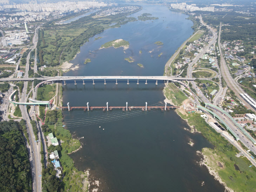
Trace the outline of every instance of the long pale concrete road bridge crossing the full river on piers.
{"label": "long pale concrete road bridge crossing the full river on piers", "polygon": [[[64,80],[163,80],[163,81],[193,81],[192,77],[175,77],[175,76],[55,76],[55,77],[23,77],[23,78],[1,78],[0,81],[34,81],[35,79],[43,81],[64,81]],[[199,78],[202,80],[210,78]]]}

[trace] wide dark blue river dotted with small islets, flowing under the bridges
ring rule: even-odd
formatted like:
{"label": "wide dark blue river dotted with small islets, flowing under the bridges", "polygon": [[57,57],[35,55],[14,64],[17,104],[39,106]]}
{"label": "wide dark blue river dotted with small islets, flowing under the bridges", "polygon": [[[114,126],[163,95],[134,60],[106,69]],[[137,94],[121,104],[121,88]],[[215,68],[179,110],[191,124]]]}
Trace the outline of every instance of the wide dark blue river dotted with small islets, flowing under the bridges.
{"label": "wide dark blue river dotted with small islets, flowing under the bridges", "polygon": [[[91,38],[71,61],[79,69],[67,76],[163,75],[164,65],[175,50],[193,33],[187,15],[165,6],[144,5],[137,17],[150,13],[157,20],[135,21],[105,30]],[[99,49],[115,39],[129,41],[127,50]],[[162,46],[154,44],[163,42]],[[142,53],[139,53],[139,51]],[[158,55],[162,53],[161,57]],[[124,58],[132,56],[134,62]],[[92,62],[83,64],[85,59]],[[140,68],[137,63],[143,64]],[[69,81],[63,85],[63,103],[70,106],[163,105],[164,83],[140,81]],[[63,111],[66,128],[80,138],[82,149],[71,154],[79,170],[90,170],[90,181],[99,180],[100,191],[224,191],[224,187],[200,167],[196,151],[213,147],[201,134],[191,133],[174,110]],[[190,146],[189,139],[195,143]],[[90,191],[96,186],[91,185]]]}

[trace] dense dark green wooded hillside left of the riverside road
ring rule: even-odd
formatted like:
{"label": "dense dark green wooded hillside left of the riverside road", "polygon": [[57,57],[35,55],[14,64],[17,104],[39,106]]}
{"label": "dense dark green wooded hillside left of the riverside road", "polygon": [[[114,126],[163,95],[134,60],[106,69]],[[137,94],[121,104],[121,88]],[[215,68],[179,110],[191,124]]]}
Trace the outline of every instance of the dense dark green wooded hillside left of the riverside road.
{"label": "dense dark green wooded hillside left of the riverside road", "polygon": [[0,191],[31,191],[28,152],[19,122],[0,122]]}

